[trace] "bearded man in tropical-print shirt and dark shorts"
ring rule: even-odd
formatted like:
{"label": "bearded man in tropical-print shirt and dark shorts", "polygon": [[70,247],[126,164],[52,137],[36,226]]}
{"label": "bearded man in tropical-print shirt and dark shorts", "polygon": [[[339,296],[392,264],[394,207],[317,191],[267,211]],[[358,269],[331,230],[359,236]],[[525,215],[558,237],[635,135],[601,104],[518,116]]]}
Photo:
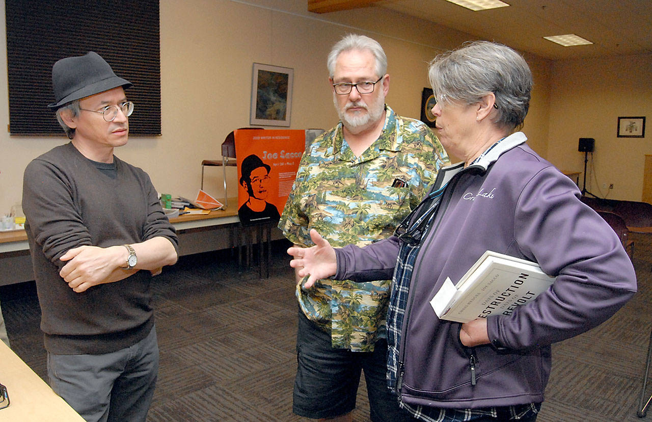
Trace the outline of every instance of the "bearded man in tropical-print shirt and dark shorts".
{"label": "bearded man in tropical-print shirt and dark shorts", "polygon": [[[448,157],[426,125],[385,105],[389,74],[378,42],[347,35],[327,65],[340,122],[306,149],[278,227],[300,247],[312,246],[312,228],[333,247],[368,245],[393,234]],[[296,282],[293,412],[350,421],[364,370],[372,421],[411,419],[386,387],[391,280]]]}

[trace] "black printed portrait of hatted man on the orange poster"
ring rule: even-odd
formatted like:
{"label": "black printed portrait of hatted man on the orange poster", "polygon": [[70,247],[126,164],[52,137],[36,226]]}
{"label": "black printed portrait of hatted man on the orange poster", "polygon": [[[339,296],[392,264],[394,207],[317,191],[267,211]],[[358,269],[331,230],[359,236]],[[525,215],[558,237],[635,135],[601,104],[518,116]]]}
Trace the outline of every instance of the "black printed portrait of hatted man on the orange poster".
{"label": "black printed portrait of hatted man on the orange poster", "polygon": [[238,209],[242,224],[262,224],[278,221],[280,214],[276,205],[267,202],[269,196],[269,164],[265,164],[258,155],[244,158],[241,166],[240,185],[249,195],[248,200]]}

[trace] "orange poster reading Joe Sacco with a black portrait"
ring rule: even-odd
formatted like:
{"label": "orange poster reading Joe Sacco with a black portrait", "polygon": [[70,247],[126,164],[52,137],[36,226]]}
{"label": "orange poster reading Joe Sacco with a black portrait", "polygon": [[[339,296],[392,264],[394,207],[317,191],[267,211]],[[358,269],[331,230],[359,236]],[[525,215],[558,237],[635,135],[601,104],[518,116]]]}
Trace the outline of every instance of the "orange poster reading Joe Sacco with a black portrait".
{"label": "orange poster reading Joe Sacco with a black portrait", "polygon": [[278,221],[305,148],[304,130],[235,130],[238,215],[244,225]]}

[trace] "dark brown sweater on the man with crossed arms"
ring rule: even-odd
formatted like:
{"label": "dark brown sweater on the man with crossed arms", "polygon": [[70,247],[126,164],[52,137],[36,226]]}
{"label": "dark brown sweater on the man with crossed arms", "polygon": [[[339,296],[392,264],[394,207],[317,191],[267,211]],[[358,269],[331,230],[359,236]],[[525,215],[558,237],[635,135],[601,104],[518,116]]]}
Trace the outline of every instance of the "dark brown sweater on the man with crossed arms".
{"label": "dark brown sweater on the man with crossed arms", "polygon": [[110,247],[163,236],[177,247],[147,173],[114,157],[115,177],[67,143],[32,160],[23,179],[25,230],[53,354],[104,354],[143,339],[154,324],[151,274],[74,292],[59,258],[82,245]]}

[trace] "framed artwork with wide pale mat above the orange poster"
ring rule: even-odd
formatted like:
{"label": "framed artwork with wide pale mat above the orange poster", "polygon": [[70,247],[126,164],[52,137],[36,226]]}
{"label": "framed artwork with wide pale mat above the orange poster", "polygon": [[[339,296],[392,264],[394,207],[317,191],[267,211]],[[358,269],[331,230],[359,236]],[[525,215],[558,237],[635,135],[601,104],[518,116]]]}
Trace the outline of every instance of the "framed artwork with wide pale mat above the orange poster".
{"label": "framed artwork with wide pale mat above the orange poster", "polygon": [[251,83],[251,125],[289,126],[292,79],[289,67],[254,63]]}

